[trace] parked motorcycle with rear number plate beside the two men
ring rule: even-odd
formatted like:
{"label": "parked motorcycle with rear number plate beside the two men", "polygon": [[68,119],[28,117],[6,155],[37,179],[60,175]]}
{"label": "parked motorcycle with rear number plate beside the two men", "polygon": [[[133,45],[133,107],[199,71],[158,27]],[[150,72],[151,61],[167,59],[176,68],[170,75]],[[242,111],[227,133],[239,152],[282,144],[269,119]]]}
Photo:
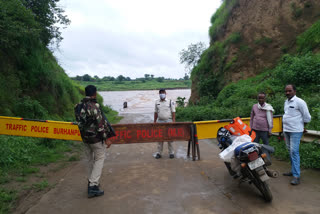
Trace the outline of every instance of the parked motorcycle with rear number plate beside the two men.
{"label": "parked motorcycle with rear number plate beside the two men", "polygon": [[[221,127],[217,132],[221,151],[232,145],[235,138],[227,129]],[[273,147],[247,142],[237,146],[233,152],[232,161],[224,162],[230,175],[235,179],[240,178],[240,182],[253,183],[265,201],[271,202],[273,197],[267,180],[278,176],[278,172],[267,169],[267,166],[271,165],[270,153],[274,152]]]}

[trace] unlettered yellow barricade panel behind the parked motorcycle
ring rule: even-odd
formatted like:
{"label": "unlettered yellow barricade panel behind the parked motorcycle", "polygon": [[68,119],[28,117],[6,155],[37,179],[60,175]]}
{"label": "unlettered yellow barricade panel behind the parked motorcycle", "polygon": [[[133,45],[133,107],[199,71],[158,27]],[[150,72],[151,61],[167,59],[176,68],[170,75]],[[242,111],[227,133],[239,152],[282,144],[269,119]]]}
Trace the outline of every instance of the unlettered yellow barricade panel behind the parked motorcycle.
{"label": "unlettered yellow barricade panel behind the parked motorcycle", "polygon": [[[241,120],[250,125],[250,117],[241,118]],[[220,127],[228,125],[231,120],[211,120],[194,122],[197,126],[198,139],[216,138]],[[282,132],[282,117],[274,116],[272,132]]]}

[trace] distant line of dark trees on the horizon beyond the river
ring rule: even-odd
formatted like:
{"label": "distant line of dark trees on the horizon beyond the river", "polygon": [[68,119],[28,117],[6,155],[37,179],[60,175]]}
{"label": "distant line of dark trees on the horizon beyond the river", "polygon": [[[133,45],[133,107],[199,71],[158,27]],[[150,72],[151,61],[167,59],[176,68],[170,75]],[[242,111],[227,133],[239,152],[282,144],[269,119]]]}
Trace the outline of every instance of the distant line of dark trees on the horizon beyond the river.
{"label": "distant line of dark trees on the horizon beyond the river", "polygon": [[145,74],[144,77],[131,79],[130,77],[125,77],[123,75],[119,75],[118,77],[112,76],[104,76],[102,78],[95,76],[90,76],[89,74],[85,74],[83,76],[77,75],[76,77],[71,77],[73,80],[78,81],[86,81],[86,82],[102,82],[102,81],[117,81],[117,82],[124,82],[124,81],[151,81],[156,80],[158,82],[163,82],[164,80],[189,80],[189,75],[185,74],[183,78],[180,79],[173,79],[173,78],[164,78],[164,77],[155,77],[153,74]]}

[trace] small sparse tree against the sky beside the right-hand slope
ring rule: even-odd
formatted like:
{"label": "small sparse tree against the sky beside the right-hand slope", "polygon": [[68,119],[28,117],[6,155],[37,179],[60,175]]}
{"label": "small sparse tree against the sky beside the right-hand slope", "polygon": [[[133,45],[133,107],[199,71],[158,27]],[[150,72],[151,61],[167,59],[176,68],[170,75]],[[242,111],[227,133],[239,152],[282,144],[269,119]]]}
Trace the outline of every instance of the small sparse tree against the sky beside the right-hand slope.
{"label": "small sparse tree against the sky beside the right-hand slope", "polygon": [[200,60],[201,54],[206,49],[206,45],[203,42],[196,44],[190,44],[188,49],[182,49],[179,53],[180,63],[185,64],[185,69],[190,73],[194,66],[197,65]]}

